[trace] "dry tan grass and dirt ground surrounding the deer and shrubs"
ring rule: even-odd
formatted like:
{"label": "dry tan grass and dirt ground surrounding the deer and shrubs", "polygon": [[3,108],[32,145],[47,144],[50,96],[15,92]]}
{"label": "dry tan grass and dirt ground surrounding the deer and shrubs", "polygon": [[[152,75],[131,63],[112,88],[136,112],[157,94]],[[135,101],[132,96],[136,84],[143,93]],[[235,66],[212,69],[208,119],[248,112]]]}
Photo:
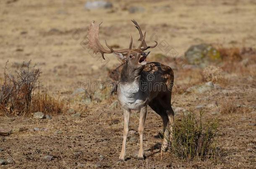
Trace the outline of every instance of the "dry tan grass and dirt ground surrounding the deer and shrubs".
{"label": "dry tan grass and dirt ground surrounding the deer and shrubs", "polygon": [[[255,1],[111,2],[111,9],[85,10],[84,0],[0,1],[2,70],[7,60],[10,71],[17,64],[32,60],[42,70],[41,92],[72,101],[73,108],[87,107],[78,118],[68,113],[52,115],[51,120],[36,120],[32,116],[0,116],[0,127],[13,129],[9,136],[0,137],[0,148],[3,148],[0,159],[11,157],[15,161],[13,164],[0,165],[0,168],[72,169],[80,163],[85,164],[85,168],[256,168],[256,149],[248,147],[256,144],[256,64],[250,61],[250,67],[244,68],[246,71],[236,67],[227,71],[225,76],[228,81],[219,88],[205,93],[175,92],[172,96],[174,107],[195,112],[199,112],[199,105],[221,105],[226,98],[237,105],[238,111],[233,114],[215,114],[212,113],[215,107],[204,108],[205,121],[219,119],[217,146],[221,156],[217,160],[188,162],[176,159],[170,152],[158,152],[139,161],[132,157],[133,151],[138,149],[136,135],[129,136],[128,159],[120,162],[122,110],[119,106],[114,109],[109,106],[115,101],[115,96],[90,105],[73,101],[73,91],[81,88],[84,82],[104,81],[107,71],[120,64],[112,55],[106,55],[106,61],[102,61],[100,55],[91,55],[85,48],[87,26],[92,20],[97,23],[104,21],[100,30],[102,44],[106,39],[110,45],[127,48],[128,33],[134,39],[138,37],[131,22],[131,19],[135,19],[147,31],[148,44],[158,40],[159,44],[162,42],[172,49],[172,53],[169,53],[159,45],[151,50],[150,55],[161,53],[178,58],[191,45],[200,43],[255,48]],[[145,10],[129,13],[127,8],[131,6],[141,6]],[[138,42],[133,45],[135,48]],[[163,63],[175,66],[174,63]],[[205,83],[201,79],[201,69],[184,69],[178,65],[173,70],[177,86],[187,88]],[[3,71],[0,75],[3,78]],[[181,116],[177,113],[175,118]],[[161,142],[157,135],[162,132],[162,120],[149,109],[145,126],[144,147],[150,149]],[[44,130],[33,131],[35,127]],[[27,130],[19,131],[21,128]],[[138,131],[137,128],[138,112],[134,112],[130,129]],[[42,161],[45,155],[51,155],[53,159]]]}

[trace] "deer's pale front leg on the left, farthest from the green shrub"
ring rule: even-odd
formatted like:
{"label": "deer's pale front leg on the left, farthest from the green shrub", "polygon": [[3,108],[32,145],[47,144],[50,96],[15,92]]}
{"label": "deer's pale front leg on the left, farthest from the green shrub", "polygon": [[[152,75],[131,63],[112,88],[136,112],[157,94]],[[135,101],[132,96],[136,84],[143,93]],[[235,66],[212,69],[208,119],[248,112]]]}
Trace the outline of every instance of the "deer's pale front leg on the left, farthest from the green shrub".
{"label": "deer's pale front leg on the left, farthest from the green shrub", "polygon": [[131,111],[130,110],[123,110],[123,120],[124,120],[124,124],[123,124],[123,145],[122,145],[122,150],[121,150],[121,154],[119,156],[120,160],[125,160],[125,151],[126,151],[126,140],[127,140],[127,135],[128,135],[128,131],[129,131],[129,121],[130,121],[130,114]]}

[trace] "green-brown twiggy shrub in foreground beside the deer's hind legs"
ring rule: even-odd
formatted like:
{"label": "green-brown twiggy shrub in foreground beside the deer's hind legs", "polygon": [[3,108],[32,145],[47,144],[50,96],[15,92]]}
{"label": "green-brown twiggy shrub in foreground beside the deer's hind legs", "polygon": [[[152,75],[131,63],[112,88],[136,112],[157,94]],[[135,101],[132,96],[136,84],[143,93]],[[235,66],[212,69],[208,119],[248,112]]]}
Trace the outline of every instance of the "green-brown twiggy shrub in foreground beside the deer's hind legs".
{"label": "green-brown twiggy shrub in foreground beside the deer's hind legs", "polygon": [[202,121],[202,113],[195,114],[186,111],[180,121],[175,121],[170,150],[180,159],[197,161],[217,157],[216,136],[218,121],[207,123]]}

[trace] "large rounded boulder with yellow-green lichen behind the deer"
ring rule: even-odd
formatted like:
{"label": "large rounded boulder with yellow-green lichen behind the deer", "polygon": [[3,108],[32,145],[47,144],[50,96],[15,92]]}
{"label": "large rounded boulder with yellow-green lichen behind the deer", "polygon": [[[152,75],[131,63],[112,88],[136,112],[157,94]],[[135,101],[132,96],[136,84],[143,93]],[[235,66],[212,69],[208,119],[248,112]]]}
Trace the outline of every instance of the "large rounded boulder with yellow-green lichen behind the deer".
{"label": "large rounded boulder with yellow-green lichen behind the deer", "polygon": [[200,67],[207,66],[210,62],[221,61],[221,55],[217,49],[209,44],[199,44],[191,46],[185,52],[185,58],[189,64]]}

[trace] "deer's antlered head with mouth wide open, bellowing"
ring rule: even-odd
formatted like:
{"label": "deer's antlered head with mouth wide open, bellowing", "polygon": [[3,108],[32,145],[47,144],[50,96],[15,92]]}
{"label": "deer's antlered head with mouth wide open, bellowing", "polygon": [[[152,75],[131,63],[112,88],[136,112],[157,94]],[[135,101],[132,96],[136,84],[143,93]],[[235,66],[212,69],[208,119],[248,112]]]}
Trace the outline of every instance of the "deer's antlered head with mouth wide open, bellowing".
{"label": "deer's antlered head with mouth wide open, bellowing", "polygon": [[138,48],[132,49],[133,38],[129,34],[130,35],[129,48],[122,49],[122,50],[114,50],[110,45],[107,44],[107,41],[105,40],[105,43],[110,50],[104,49],[103,46],[99,42],[99,26],[102,23],[95,25],[94,21],[92,21],[88,27],[88,35],[87,35],[88,48],[92,49],[95,54],[101,53],[103,59],[105,59],[104,53],[113,53],[116,56],[118,56],[118,58],[126,61],[131,66],[135,66],[136,68],[145,66],[146,65],[146,57],[150,52],[144,52],[144,50],[156,47],[157,41],[155,41],[156,44],[153,46],[146,45],[146,42],[145,42],[146,31],[144,34],[142,34],[141,28],[138,25],[138,23],[135,20],[132,20],[132,22],[135,24],[135,27],[138,29],[139,34],[140,34],[140,38],[138,40],[141,41],[141,43],[138,46]]}

